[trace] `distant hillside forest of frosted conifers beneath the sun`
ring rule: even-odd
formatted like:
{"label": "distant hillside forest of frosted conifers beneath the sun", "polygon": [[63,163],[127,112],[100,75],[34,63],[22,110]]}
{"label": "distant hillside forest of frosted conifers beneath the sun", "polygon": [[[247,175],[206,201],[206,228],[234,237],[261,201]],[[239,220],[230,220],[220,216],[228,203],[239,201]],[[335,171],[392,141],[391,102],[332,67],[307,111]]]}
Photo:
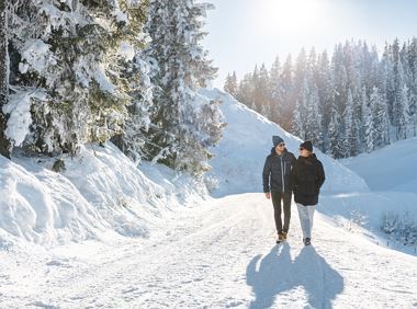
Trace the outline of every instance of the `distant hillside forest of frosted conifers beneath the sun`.
{"label": "distant hillside forest of frosted conifers beneath the sun", "polygon": [[372,151],[416,136],[417,38],[386,44],[382,56],[365,42],[281,65],[256,67],[224,89],[237,100],[334,158]]}

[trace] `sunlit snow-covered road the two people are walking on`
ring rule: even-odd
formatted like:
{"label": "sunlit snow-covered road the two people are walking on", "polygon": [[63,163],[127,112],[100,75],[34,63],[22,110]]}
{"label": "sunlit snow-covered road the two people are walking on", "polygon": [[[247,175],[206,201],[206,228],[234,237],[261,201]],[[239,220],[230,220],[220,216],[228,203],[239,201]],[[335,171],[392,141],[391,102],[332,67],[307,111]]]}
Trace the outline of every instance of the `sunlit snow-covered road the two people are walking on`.
{"label": "sunlit snow-covered road the two people are walking on", "polygon": [[316,213],[313,247],[293,205],[275,245],[263,194],[172,213],[149,239],[0,251],[0,307],[413,308],[417,259],[349,233]]}

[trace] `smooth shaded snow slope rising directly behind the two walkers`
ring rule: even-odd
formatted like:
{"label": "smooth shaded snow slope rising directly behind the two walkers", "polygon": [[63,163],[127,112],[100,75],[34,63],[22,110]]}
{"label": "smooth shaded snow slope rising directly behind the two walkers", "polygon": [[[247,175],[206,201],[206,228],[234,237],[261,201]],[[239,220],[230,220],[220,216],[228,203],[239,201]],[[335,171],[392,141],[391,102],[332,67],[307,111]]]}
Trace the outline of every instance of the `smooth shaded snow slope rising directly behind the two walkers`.
{"label": "smooth shaded snow slope rising directly behind the two walkers", "polygon": [[[224,138],[211,151],[212,171],[208,182],[214,196],[225,196],[247,192],[262,192],[262,169],[267,156],[271,152],[272,136],[281,136],[289,151],[297,157],[302,142],[300,138],[283,130],[277,124],[236,101],[219,90],[202,90],[210,99],[223,101],[221,110],[227,126]],[[315,150],[326,172],[323,193],[368,192],[368,185],[354,172],[336,160]]]}

